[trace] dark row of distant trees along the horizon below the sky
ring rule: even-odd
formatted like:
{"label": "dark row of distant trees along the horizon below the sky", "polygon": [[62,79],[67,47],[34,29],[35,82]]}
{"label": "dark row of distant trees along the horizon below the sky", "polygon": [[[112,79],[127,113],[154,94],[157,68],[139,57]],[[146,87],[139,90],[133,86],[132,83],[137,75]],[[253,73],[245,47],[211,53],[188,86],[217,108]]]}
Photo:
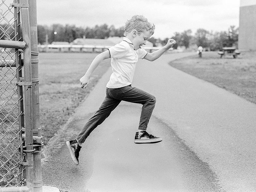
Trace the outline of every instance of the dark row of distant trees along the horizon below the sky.
{"label": "dark row of distant trees along the horizon below the sky", "polygon": [[[11,27],[6,24],[0,24],[0,39],[9,39],[14,36]],[[71,43],[76,38],[108,38],[123,37],[124,27],[115,28],[113,25],[107,24],[95,25],[94,27],[76,27],[75,25],[53,24],[51,26],[38,25],[38,43],[45,44],[47,41],[51,44],[53,41],[62,41]],[[8,37],[8,38],[7,38]],[[192,34],[192,30],[184,30],[183,32],[175,32],[173,36],[165,39],[151,37],[148,39],[154,46],[165,45],[169,38],[176,40],[173,46],[183,46],[186,49],[196,45],[210,51],[221,50],[222,47],[237,47],[238,27],[231,25],[227,31],[213,32],[203,28],[197,29]]]}

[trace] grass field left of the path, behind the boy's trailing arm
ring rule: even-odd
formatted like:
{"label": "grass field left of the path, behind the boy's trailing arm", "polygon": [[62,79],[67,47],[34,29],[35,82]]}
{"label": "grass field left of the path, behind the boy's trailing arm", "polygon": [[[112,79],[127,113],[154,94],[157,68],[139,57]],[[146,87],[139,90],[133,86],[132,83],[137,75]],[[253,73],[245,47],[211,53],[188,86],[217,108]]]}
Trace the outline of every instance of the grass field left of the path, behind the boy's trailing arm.
{"label": "grass field left of the path, behind the boy's trailing arm", "polygon": [[96,55],[59,52],[39,54],[40,127],[45,145],[67,123],[74,109],[110,67],[109,59],[103,61],[94,71],[88,87],[80,88],[79,79]]}

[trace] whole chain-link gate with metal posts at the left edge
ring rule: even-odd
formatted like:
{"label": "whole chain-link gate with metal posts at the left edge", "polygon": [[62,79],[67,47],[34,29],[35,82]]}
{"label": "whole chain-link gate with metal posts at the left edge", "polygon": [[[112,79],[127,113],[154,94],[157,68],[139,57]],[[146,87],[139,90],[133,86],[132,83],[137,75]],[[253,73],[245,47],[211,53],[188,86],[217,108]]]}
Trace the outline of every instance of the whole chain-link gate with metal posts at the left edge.
{"label": "whole chain-link gate with metal posts at the left edge", "polygon": [[42,191],[36,0],[0,2],[0,192]]}

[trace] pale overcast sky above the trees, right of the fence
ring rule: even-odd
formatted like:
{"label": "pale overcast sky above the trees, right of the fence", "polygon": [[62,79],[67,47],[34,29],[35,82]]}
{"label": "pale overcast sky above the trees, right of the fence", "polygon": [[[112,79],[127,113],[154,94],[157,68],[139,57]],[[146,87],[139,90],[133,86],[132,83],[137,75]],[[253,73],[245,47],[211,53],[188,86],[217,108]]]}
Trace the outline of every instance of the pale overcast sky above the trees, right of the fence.
{"label": "pale overcast sky above the trees, right of the fence", "polygon": [[133,15],[144,15],[156,25],[152,37],[198,28],[227,31],[239,26],[240,0],[37,0],[38,24],[94,27],[125,25]]}

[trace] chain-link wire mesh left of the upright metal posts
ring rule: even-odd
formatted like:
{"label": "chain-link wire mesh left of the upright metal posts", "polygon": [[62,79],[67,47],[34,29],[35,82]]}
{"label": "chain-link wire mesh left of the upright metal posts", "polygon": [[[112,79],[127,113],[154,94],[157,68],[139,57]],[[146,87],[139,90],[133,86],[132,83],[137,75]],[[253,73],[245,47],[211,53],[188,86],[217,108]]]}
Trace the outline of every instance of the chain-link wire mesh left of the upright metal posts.
{"label": "chain-link wire mesh left of the upright metal posts", "polygon": [[[21,41],[20,8],[0,2],[0,39]],[[20,81],[23,67],[18,49],[0,48],[0,187],[22,186],[25,175],[22,128],[23,94]]]}

